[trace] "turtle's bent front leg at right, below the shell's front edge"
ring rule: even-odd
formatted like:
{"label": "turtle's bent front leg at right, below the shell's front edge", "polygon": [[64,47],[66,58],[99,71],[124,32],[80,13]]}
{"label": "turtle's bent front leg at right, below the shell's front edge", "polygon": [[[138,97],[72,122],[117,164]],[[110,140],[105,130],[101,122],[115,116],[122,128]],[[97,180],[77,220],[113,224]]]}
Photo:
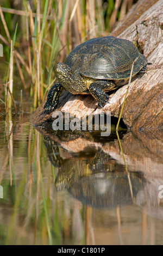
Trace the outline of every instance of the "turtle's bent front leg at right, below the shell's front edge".
{"label": "turtle's bent front leg at right, below the shell's front edge", "polygon": [[112,81],[98,80],[90,84],[90,94],[97,100],[98,106],[104,107],[109,102],[109,95],[105,92],[109,92],[113,88],[116,88],[116,84]]}

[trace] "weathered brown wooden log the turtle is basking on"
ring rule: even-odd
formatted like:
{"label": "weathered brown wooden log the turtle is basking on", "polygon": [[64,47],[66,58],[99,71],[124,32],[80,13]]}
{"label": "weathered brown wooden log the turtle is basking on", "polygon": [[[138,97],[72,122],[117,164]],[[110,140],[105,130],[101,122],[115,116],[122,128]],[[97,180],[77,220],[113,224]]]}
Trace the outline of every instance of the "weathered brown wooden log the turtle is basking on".
{"label": "weathered brown wooden log the turtle is basking on", "polygon": [[[146,8],[144,7],[145,2],[148,2]],[[155,3],[156,1],[139,1],[136,7],[139,14],[142,13],[141,16],[135,15],[136,9],[133,8],[127,15],[126,20],[121,22],[112,32],[112,35],[135,42],[139,50],[148,58],[148,62],[152,63],[145,75],[131,82],[124,105],[123,121],[133,131],[162,129],[163,127],[163,47],[161,47],[163,44],[161,30],[163,2],[162,0],[157,1],[147,9],[150,2]],[[135,20],[131,23],[132,13]],[[124,25],[129,25],[128,19],[130,19],[129,23],[131,25],[126,28]],[[118,117],[126,90],[127,85],[113,92],[110,95],[110,102],[103,109],[97,108],[96,101],[90,95],[71,95],[67,93],[64,99],[60,99],[59,109],[62,112],[68,111],[73,115],[76,114],[80,118],[83,115],[89,115],[95,109],[96,113],[103,110],[111,111],[112,115]],[[39,115],[43,111],[44,103],[36,109],[32,116],[31,120],[34,125],[39,125],[43,121],[52,118],[52,114]]]}

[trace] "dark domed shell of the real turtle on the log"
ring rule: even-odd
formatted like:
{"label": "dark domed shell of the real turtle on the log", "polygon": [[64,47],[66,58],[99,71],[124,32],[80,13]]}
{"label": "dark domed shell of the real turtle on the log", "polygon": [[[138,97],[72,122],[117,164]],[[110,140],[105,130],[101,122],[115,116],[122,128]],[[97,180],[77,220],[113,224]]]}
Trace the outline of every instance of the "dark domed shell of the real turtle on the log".
{"label": "dark domed shell of the real turtle on the log", "polygon": [[78,74],[99,80],[127,80],[137,58],[133,76],[147,64],[147,59],[133,42],[114,36],[87,40],[72,50],[65,64]]}

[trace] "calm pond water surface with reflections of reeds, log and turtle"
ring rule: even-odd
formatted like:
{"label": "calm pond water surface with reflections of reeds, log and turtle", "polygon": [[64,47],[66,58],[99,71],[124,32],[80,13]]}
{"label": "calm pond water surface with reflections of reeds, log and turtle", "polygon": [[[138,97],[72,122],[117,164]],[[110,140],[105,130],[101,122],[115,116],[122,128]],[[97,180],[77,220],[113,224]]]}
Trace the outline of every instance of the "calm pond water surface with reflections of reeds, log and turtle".
{"label": "calm pond water surface with reflections of reeds, log and turtle", "polygon": [[161,133],[118,141],[29,117],[27,105],[0,120],[1,245],[163,244]]}

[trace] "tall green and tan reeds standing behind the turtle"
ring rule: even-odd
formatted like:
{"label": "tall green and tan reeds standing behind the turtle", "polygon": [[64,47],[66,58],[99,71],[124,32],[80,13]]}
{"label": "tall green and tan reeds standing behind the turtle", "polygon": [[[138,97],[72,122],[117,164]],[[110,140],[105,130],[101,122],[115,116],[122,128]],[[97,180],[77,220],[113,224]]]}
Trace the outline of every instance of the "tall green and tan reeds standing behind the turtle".
{"label": "tall green and tan reeds standing behind the turtle", "polygon": [[23,90],[36,108],[55,81],[55,64],[64,62],[68,53],[83,41],[109,35],[133,2],[24,0],[18,5],[12,1],[11,6],[9,0],[1,1],[0,42],[4,46],[4,59],[9,62],[6,111],[11,108],[11,94],[16,87],[13,72],[18,72]]}

